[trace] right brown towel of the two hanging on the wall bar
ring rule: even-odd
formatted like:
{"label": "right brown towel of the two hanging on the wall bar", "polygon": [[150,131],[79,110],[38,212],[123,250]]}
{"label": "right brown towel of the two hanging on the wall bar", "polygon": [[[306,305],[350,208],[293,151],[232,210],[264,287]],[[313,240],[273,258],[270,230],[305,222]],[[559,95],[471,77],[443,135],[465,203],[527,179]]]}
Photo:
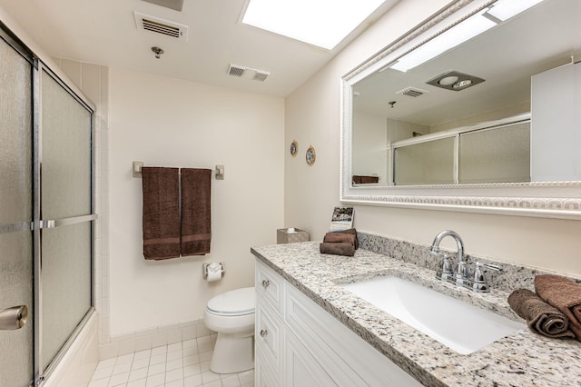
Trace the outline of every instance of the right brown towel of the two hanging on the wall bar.
{"label": "right brown towel of the two hanging on the wall bar", "polygon": [[210,253],[211,169],[182,168],[182,255]]}

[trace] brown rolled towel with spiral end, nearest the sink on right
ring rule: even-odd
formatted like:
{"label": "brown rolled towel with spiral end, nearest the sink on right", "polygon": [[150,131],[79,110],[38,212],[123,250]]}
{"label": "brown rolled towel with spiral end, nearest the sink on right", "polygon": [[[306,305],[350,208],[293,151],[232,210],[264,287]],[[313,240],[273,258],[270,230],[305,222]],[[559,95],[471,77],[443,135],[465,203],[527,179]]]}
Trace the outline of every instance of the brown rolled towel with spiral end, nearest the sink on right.
{"label": "brown rolled towel with spiral end, nearest the sink on right", "polygon": [[545,303],[536,293],[528,289],[517,289],[508,296],[508,304],[520,317],[527,320],[527,325],[533,332],[547,337],[575,338],[575,334],[569,330],[566,315]]}

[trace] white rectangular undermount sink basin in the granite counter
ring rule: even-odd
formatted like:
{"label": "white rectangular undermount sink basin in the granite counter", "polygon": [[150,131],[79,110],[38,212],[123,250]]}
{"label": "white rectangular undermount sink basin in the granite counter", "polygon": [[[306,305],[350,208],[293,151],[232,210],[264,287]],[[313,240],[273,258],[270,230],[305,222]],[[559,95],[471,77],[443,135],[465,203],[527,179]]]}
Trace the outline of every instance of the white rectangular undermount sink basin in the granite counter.
{"label": "white rectangular undermount sink basin in the granite counter", "polygon": [[341,286],[462,354],[478,351],[526,328],[522,323],[395,276]]}

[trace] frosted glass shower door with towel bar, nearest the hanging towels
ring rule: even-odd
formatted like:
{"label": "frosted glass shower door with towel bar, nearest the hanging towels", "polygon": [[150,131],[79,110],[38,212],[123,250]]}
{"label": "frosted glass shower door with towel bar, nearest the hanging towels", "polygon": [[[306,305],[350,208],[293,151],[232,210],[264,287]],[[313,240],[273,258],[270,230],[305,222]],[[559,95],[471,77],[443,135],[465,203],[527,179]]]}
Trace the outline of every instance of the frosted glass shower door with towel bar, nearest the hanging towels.
{"label": "frosted glass shower door with towel bar, nearest the hanging towels", "polygon": [[92,311],[93,112],[39,63],[40,372]]}

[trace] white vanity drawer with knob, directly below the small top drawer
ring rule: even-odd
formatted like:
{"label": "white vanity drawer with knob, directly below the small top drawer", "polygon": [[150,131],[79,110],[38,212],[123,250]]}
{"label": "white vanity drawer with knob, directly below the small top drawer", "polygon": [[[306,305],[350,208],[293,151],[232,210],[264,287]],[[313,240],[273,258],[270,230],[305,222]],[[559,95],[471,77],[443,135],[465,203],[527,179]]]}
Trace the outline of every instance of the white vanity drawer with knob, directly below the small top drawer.
{"label": "white vanity drawer with knob, directly below the small top drawer", "polygon": [[282,373],[283,325],[261,295],[256,303],[256,349],[262,360],[271,363],[274,372]]}

